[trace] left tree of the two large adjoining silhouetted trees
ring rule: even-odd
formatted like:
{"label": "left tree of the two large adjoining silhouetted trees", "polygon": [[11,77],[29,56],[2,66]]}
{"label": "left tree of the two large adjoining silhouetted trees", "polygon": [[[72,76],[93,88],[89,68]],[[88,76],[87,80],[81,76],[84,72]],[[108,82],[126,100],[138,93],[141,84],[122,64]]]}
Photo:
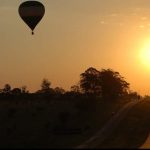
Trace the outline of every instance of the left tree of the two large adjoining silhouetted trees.
{"label": "left tree of the two large adjoining silhouetted trees", "polygon": [[100,72],[93,67],[80,75],[80,87],[84,93],[101,94]]}

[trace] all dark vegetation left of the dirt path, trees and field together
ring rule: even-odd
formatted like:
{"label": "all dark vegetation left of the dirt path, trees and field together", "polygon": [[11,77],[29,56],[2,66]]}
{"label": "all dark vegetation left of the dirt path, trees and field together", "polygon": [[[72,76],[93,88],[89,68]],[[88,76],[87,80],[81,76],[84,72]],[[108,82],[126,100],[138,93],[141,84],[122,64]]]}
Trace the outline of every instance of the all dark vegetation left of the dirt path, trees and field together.
{"label": "all dark vegetation left of the dirt path, trees and field together", "polygon": [[111,69],[89,68],[65,91],[26,86],[0,90],[0,148],[73,148],[94,135],[127,102],[139,99]]}

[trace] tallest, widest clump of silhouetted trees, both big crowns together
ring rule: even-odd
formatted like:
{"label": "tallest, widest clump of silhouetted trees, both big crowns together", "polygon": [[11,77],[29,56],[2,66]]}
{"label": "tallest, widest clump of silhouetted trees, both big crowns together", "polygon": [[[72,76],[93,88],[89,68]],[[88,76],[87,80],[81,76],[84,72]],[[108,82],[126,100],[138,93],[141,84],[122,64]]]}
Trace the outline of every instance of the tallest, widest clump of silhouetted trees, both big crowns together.
{"label": "tallest, widest clump of silhouetted trees, both big crowns together", "polygon": [[80,76],[80,87],[84,93],[99,95],[104,99],[116,99],[128,93],[129,83],[119,72],[111,69],[98,71],[90,67]]}

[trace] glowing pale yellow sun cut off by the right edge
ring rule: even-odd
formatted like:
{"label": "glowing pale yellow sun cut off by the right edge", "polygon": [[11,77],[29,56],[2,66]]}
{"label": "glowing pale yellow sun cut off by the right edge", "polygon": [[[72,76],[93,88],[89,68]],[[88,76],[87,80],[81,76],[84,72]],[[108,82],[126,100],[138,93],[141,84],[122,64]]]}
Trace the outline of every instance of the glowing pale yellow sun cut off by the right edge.
{"label": "glowing pale yellow sun cut off by the right edge", "polygon": [[139,53],[141,63],[150,69],[150,41],[147,42]]}

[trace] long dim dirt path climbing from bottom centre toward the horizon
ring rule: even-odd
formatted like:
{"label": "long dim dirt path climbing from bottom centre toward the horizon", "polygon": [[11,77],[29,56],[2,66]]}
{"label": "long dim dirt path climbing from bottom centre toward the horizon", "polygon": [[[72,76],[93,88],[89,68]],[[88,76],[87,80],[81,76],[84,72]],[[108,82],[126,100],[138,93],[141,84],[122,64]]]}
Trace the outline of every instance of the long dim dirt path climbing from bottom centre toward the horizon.
{"label": "long dim dirt path climbing from bottom centre toward the horizon", "polygon": [[138,103],[139,101],[132,101],[127,103],[117,114],[115,114],[106,125],[97,132],[96,135],[91,137],[89,140],[79,145],[76,148],[97,148],[117,127],[119,122],[124,118],[124,116],[128,113],[128,111]]}

